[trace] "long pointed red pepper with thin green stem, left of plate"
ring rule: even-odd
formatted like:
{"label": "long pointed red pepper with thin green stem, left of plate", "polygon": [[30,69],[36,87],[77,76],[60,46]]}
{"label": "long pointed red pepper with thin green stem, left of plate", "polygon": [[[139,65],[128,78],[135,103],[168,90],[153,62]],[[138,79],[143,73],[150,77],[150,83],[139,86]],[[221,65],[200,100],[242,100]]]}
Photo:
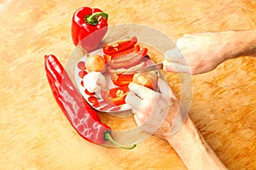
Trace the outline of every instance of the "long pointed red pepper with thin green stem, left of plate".
{"label": "long pointed red pepper with thin green stem, left of plate", "polygon": [[45,55],[44,60],[46,76],[55,100],[79,135],[95,144],[104,144],[109,140],[125,149],[132,149],[136,146],[136,144],[123,146],[112,138],[111,128],[103,124],[96,111],[84,101],[55,55]]}

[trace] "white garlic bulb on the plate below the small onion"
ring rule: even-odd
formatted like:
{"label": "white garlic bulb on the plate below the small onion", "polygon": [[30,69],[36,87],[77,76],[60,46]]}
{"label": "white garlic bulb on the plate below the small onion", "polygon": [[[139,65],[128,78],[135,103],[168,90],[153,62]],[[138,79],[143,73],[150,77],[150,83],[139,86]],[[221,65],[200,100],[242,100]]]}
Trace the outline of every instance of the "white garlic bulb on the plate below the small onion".
{"label": "white garlic bulb on the plate below the small onion", "polygon": [[84,88],[90,93],[100,93],[102,89],[107,87],[107,80],[101,72],[91,71],[83,78]]}

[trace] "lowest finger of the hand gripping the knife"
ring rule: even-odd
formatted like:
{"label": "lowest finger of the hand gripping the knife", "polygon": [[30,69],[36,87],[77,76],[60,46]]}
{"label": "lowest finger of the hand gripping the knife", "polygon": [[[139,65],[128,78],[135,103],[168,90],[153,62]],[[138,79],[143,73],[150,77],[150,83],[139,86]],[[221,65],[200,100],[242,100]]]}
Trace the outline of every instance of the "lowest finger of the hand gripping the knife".
{"label": "lowest finger of the hand gripping the knife", "polygon": [[170,63],[169,65],[164,65],[164,71],[167,72],[178,72],[178,73],[189,73],[191,74],[189,65],[180,65],[178,63]]}

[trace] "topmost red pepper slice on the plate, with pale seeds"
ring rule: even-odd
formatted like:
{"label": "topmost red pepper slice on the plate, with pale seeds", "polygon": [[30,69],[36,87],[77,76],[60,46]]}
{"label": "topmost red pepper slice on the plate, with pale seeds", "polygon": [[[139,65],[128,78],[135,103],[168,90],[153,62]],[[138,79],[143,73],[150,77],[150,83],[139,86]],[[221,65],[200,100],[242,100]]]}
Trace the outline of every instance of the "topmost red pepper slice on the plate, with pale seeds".
{"label": "topmost red pepper slice on the plate, with pale seeds", "polygon": [[105,45],[103,47],[104,54],[116,54],[126,49],[133,48],[134,45],[137,43],[137,37],[131,37],[131,40],[126,40],[123,42],[113,42],[110,45]]}

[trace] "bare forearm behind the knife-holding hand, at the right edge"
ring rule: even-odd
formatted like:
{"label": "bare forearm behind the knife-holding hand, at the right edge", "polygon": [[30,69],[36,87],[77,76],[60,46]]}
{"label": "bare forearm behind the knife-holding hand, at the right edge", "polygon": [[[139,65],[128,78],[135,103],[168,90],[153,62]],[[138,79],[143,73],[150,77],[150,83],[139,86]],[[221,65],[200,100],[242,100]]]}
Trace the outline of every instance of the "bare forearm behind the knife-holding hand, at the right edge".
{"label": "bare forearm behind the knife-holding hand, at the right edge", "polygon": [[226,59],[256,57],[256,29],[248,31],[227,31]]}

